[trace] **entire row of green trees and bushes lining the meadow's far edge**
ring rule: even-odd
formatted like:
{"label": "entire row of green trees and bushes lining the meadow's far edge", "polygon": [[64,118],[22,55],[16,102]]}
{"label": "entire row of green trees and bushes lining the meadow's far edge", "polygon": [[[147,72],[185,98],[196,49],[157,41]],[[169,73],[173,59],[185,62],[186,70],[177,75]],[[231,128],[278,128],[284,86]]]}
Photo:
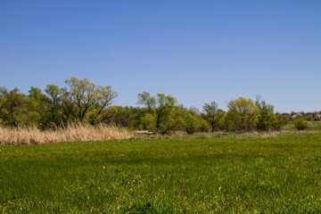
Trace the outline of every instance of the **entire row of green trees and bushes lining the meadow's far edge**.
{"label": "entire row of green trees and bushes lining the meadow's far edge", "polygon": [[205,103],[202,111],[185,108],[171,95],[138,94],[139,107],[112,105],[117,92],[111,86],[96,86],[87,78],[69,78],[66,86],[48,85],[44,92],[31,86],[25,95],[18,88],[0,87],[0,125],[41,129],[68,126],[70,122],[112,124],[162,134],[184,130],[194,132],[281,130],[289,117],[257,99],[239,97],[227,104]]}

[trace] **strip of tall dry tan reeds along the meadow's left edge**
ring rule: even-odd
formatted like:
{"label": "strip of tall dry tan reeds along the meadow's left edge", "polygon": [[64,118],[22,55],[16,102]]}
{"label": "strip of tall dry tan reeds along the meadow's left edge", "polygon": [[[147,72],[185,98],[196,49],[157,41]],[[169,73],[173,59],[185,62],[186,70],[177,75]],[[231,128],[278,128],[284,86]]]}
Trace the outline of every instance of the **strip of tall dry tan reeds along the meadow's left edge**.
{"label": "strip of tall dry tan reeds along the meadow's left edge", "polygon": [[66,128],[41,131],[37,128],[1,128],[0,144],[47,144],[78,141],[103,141],[132,137],[125,128],[70,124]]}

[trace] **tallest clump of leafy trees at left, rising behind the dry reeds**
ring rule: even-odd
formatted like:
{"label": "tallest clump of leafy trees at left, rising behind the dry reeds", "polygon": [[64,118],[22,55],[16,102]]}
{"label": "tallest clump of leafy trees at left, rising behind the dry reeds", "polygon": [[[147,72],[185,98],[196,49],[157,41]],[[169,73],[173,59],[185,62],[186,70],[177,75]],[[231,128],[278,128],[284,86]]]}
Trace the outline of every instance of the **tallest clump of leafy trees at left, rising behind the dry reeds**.
{"label": "tallest clump of leafy trees at left, rising behind the dry reeds", "polygon": [[103,122],[117,93],[111,86],[95,86],[88,79],[70,78],[68,87],[45,87],[45,94],[31,86],[29,95],[18,88],[0,87],[0,122],[4,126],[52,128],[70,121]]}

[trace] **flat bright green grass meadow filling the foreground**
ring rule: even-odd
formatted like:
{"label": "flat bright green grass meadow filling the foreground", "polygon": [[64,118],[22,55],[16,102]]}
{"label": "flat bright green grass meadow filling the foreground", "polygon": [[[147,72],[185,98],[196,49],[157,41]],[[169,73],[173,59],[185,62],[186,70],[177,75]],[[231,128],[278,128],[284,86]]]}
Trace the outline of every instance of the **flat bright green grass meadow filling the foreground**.
{"label": "flat bright green grass meadow filling the foreground", "polygon": [[0,146],[0,213],[320,213],[321,133]]}

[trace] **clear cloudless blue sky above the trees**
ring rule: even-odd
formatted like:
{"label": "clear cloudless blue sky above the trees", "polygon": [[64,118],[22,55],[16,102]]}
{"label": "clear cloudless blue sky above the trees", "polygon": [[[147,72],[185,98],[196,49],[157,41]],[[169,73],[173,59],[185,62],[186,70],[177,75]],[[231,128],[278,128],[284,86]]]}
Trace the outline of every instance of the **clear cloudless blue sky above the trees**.
{"label": "clear cloudless blue sky above the trees", "polygon": [[110,85],[118,105],[186,107],[261,95],[321,111],[321,1],[0,1],[0,86]]}

